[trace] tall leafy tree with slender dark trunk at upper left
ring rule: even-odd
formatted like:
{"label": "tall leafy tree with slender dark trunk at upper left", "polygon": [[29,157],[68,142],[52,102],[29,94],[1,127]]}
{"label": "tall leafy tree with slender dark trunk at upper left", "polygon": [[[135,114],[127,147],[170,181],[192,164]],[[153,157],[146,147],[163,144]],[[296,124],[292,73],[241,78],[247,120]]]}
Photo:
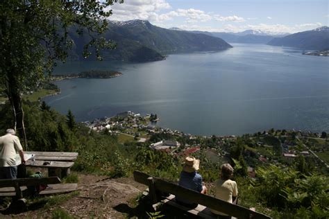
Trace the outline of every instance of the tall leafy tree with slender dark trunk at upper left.
{"label": "tall leafy tree with slender dark trunk at upper left", "polygon": [[[73,46],[69,30],[88,33],[83,55],[115,44],[101,36],[112,10],[109,1],[0,1],[0,81],[12,105],[17,132],[26,139],[22,93],[37,87],[44,73],[51,73],[56,60],[65,61]],[[25,141],[26,144],[26,141]]]}

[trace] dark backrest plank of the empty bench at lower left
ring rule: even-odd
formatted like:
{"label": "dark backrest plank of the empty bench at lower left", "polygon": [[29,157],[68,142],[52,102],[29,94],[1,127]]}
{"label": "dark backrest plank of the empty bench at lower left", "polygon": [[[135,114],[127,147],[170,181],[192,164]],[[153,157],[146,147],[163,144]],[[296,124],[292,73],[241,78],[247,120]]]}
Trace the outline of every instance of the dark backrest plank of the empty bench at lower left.
{"label": "dark backrest plank of the empty bench at lower left", "polygon": [[0,179],[0,188],[19,186],[36,186],[40,184],[58,184],[58,177],[28,177],[19,179]]}

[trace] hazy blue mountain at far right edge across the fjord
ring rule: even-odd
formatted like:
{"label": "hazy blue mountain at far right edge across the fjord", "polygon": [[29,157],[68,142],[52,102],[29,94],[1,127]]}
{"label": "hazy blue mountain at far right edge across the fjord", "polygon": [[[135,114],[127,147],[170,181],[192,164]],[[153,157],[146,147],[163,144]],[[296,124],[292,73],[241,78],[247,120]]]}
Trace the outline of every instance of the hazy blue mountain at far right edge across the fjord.
{"label": "hazy blue mountain at far right edge across the fjord", "polygon": [[268,44],[272,46],[290,46],[304,50],[329,50],[329,27],[321,26],[314,30],[274,38]]}

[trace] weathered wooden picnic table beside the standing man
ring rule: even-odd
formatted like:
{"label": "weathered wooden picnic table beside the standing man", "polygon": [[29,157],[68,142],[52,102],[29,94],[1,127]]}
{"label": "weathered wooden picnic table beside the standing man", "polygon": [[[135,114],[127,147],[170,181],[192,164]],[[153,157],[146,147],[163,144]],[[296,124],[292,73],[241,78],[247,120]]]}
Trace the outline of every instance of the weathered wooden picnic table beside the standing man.
{"label": "weathered wooden picnic table beside the standing man", "polygon": [[[41,152],[26,151],[26,155],[34,155],[35,161],[28,159],[26,166],[48,168],[48,176],[66,177],[78,157],[77,152]],[[50,163],[50,164],[47,164]]]}

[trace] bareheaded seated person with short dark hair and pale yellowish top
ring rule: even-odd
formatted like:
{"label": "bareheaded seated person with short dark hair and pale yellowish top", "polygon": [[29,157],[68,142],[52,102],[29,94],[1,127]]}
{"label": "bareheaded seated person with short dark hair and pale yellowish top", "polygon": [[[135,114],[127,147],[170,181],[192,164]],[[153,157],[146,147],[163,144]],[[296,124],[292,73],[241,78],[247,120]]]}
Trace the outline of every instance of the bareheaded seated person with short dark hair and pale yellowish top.
{"label": "bareheaded seated person with short dark hair and pale yellowish top", "polygon": [[[230,180],[233,176],[233,167],[230,164],[221,165],[221,178],[217,179],[214,183],[215,185],[215,195],[214,197],[237,204],[237,182]],[[217,214],[219,218],[231,218],[225,213],[220,211],[212,210],[212,213]]]}

